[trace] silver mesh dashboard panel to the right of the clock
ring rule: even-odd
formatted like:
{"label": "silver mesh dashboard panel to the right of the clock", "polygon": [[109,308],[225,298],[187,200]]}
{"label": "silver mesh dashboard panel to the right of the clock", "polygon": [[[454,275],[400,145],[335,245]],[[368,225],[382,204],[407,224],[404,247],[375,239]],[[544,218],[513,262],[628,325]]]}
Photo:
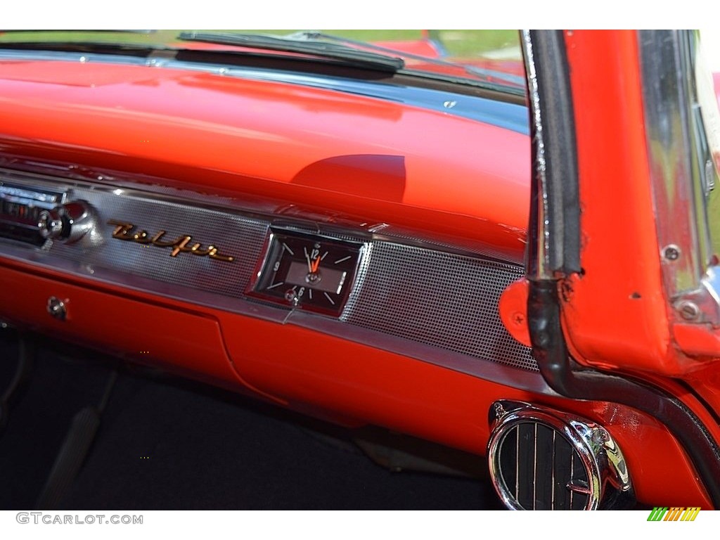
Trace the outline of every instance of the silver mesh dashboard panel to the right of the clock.
{"label": "silver mesh dashboard panel to the right of the clock", "polygon": [[498,314],[500,294],[523,275],[510,264],[374,242],[343,320],[480,359],[537,371]]}

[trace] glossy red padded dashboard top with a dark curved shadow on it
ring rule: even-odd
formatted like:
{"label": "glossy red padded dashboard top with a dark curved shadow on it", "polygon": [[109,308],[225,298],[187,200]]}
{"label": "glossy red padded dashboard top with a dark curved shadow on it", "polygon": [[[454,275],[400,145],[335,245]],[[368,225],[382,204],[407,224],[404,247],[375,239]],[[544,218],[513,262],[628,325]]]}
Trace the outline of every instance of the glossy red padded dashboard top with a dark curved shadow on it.
{"label": "glossy red padded dashboard top with a dark curved shadow on it", "polygon": [[0,116],[4,153],[524,249],[528,137],[451,114],[199,71],[4,61]]}

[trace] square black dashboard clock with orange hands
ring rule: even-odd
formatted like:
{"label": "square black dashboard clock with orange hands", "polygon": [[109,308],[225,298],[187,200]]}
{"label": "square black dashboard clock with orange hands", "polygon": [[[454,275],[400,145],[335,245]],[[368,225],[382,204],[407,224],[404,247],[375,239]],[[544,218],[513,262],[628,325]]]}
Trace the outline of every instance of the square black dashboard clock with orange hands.
{"label": "square black dashboard clock with orange hands", "polygon": [[338,317],[355,280],[363,244],[271,230],[265,261],[249,294]]}

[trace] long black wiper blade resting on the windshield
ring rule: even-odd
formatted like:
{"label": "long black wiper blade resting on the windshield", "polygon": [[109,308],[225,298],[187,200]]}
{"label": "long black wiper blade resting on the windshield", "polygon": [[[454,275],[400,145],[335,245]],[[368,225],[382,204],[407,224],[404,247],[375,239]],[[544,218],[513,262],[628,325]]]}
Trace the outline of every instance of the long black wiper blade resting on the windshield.
{"label": "long black wiper blade resting on the windshield", "polygon": [[217,45],[234,45],[253,49],[276,50],[282,53],[301,53],[333,60],[356,63],[365,68],[373,68],[395,73],[405,67],[405,61],[397,56],[372,53],[320,40],[297,40],[293,37],[276,37],[253,34],[224,34],[216,32],[181,32],[181,41],[198,41]]}

